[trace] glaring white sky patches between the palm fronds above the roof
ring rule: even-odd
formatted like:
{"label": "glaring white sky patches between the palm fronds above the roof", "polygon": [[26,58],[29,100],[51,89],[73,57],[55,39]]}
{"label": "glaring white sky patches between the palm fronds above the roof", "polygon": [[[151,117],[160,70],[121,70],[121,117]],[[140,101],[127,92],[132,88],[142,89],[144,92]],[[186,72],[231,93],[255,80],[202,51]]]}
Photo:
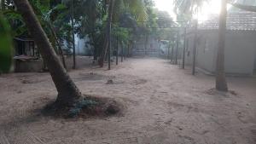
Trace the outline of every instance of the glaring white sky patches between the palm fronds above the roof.
{"label": "glaring white sky patches between the palm fronds above the roof", "polygon": [[[173,0],[154,0],[157,9],[167,11],[175,19],[173,12]],[[205,3],[199,14],[199,20],[207,20],[208,14],[218,14],[220,11],[220,0],[211,0],[209,3]]]}

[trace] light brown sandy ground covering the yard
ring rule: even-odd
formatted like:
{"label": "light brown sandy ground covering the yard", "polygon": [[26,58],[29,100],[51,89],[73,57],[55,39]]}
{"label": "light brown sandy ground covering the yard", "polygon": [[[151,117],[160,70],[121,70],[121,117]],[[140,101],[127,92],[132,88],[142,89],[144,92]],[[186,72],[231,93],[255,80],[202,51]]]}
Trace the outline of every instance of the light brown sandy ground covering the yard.
{"label": "light brown sandy ground covering the yard", "polygon": [[[84,94],[123,102],[125,114],[43,117],[38,111],[56,95],[49,74],[5,74],[0,76],[1,144],[256,143],[256,78],[229,78],[237,95],[211,95],[214,78],[194,77],[189,69],[156,58],[129,59],[111,71],[88,66],[69,73]],[[106,84],[108,79],[113,84]]]}

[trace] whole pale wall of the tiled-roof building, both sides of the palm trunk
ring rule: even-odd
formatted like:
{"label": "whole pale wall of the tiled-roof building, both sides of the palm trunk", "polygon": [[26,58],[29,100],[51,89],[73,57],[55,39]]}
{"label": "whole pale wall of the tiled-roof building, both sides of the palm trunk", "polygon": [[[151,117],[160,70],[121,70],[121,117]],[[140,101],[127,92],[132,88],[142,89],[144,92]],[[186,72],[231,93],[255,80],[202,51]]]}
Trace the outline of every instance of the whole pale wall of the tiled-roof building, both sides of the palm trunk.
{"label": "whole pale wall of the tiled-roof building, both sides of the palm trunk", "polygon": [[[225,72],[228,74],[252,75],[256,68],[256,32],[229,31],[226,33]],[[193,36],[189,37],[186,64],[193,61]],[[207,72],[215,72],[218,48],[218,31],[200,31],[197,43],[196,66]]]}

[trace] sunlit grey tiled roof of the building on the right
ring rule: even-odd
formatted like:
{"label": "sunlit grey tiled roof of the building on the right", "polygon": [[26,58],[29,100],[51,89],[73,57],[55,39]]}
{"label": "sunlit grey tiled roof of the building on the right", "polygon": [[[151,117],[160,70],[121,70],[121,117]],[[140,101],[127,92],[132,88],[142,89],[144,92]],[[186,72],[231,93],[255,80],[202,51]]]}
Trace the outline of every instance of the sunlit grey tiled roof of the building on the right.
{"label": "sunlit grey tiled roof of the building on the right", "polygon": [[[218,29],[218,14],[212,14],[210,19],[199,24],[201,30]],[[228,30],[256,31],[256,13],[233,12],[227,17]]]}

